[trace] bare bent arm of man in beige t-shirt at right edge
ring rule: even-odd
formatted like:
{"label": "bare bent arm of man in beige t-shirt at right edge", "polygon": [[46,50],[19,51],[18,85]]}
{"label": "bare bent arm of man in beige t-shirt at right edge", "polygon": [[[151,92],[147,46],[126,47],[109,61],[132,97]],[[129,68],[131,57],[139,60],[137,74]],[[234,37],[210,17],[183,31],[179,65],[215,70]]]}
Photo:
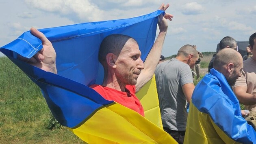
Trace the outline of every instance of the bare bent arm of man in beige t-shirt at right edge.
{"label": "bare bent arm of man in beige t-shirt at right edge", "polygon": [[247,93],[247,87],[237,86],[233,88],[233,91],[241,104],[247,106],[256,104],[256,95]]}

